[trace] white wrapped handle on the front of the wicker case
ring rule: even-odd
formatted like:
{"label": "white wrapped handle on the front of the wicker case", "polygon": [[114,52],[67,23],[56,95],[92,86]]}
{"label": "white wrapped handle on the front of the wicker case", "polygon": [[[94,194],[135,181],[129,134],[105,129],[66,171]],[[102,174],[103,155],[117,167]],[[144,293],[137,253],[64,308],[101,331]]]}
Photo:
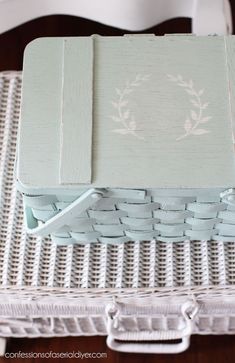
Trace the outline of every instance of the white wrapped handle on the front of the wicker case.
{"label": "white wrapped handle on the front of the wicker case", "polygon": [[[110,349],[126,353],[180,353],[189,347],[193,319],[198,312],[198,305],[192,300],[182,305],[181,312],[185,320],[185,327],[182,330],[124,331],[118,329],[120,311],[117,304],[109,305],[106,312],[108,316],[107,345]],[[170,342],[178,339],[181,340],[179,343]],[[156,340],[168,343],[156,343]],[[149,343],[149,341],[153,342]]]}

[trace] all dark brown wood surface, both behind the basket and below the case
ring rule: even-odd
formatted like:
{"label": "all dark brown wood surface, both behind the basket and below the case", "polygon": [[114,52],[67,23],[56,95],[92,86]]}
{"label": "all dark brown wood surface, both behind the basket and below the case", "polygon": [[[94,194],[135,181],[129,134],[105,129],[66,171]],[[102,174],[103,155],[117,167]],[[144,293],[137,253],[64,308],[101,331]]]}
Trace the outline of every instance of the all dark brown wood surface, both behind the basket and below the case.
{"label": "all dark brown wood surface, both behind the basket and below the case", "polygon": [[[235,1],[231,1],[235,19]],[[189,19],[173,19],[159,26],[148,29],[145,33],[163,35],[166,33],[188,33],[191,30]],[[33,39],[44,36],[86,36],[123,35],[127,31],[104,26],[90,20],[70,16],[48,16],[0,35],[0,71],[22,69],[23,51]],[[71,337],[52,339],[10,339],[8,352],[107,352],[106,359],[85,359],[85,362],[162,362],[162,363],[233,363],[235,362],[235,336],[193,336],[188,351],[178,355],[120,354],[110,351],[104,337]],[[59,359],[53,359],[53,362]],[[11,359],[0,358],[0,363]],[[23,362],[23,359],[17,359]],[[41,362],[40,359],[28,359],[30,362]],[[77,359],[62,359],[75,362]]]}

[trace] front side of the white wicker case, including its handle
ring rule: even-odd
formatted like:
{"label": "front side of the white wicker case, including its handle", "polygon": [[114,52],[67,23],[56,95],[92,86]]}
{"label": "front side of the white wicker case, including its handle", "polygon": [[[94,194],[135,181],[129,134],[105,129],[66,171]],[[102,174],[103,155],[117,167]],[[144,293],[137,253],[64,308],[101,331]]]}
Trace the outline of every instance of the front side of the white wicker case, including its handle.
{"label": "front side of the white wicker case, including its handle", "polygon": [[[31,291],[33,294],[33,291]],[[120,291],[119,291],[120,293]],[[223,301],[221,299],[223,293]],[[189,345],[191,334],[234,334],[234,297],[226,289],[190,289],[174,296],[172,291],[135,291],[113,299],[113,291],[95,297],[45,295],[30,298],[7,294],[0,305],[2,337],[52,337],[108,335],[111,348],[148,353],[177,353]],[[161,297],[162,294],[162,297]],[[82,294],[81,294],[82,295]],[[102,296],[103,295],[103,296]],[[106,295],[106,297],[105,297]],[[2,295],[4,296],[4,295]],[[55,300],[56,299],[56,300]],[[20,300],[20,303],[19,303]],[[173,344],[171,340],[182,339]],[[117,341],[116,341],[117,340]],[[118,343],[119,340],[124,343]],[[144,343],[151,340],[151,347]],[[163,346],[154,340],[168,341]],[[132,341],[131,346],[128,343]],[[133,341],[136,343],[133,345]]]}

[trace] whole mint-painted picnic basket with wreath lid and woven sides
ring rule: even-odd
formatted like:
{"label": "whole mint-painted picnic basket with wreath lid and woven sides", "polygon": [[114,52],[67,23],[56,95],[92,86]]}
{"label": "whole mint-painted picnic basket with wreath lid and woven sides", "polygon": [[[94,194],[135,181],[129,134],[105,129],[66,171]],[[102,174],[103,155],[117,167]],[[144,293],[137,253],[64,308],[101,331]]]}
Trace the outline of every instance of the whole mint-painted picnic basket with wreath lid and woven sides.
{"label": "whole mint-painted picnic basket with wreath lid and woven sides", "polygon": [[32,42],[16,172],[28,233],[58,245],[233,241],[234,44],[190,35]]}

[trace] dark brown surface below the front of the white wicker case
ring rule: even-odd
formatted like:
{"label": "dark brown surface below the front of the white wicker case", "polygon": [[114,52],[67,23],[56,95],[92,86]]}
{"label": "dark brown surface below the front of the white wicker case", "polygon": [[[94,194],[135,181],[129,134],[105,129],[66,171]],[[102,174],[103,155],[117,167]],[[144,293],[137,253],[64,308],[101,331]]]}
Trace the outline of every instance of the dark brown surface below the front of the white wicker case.
{"label": "dark brown surface below the front of the white wicker case", "polygon": [[[106,347],[104,337],[71,337],[71,338],[40,338],[12,339],[9,341],[8,352],[106,352],[104,359],[83,359],[81,362],[94,363],[234,363],[235,336],[193,336],[190,348],[180,354],[129,354],[117,353]],[[0,363],[9,359],[2,358]],[[18,359],[17,362],[23,362]],[[39,363],[40,359],[27,359],[28,363]],[[52,359],[56,362],[57,359]],[[58,359],[59,361],[59,359]],[[79,359],[60,359],[63,362],[79,362]],[[24,360],[25,362],[25,360]]]}

